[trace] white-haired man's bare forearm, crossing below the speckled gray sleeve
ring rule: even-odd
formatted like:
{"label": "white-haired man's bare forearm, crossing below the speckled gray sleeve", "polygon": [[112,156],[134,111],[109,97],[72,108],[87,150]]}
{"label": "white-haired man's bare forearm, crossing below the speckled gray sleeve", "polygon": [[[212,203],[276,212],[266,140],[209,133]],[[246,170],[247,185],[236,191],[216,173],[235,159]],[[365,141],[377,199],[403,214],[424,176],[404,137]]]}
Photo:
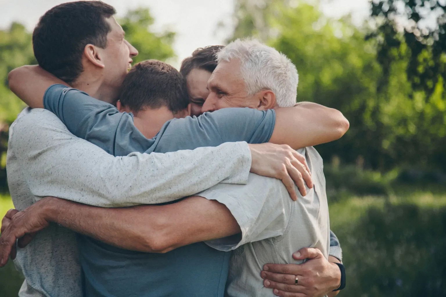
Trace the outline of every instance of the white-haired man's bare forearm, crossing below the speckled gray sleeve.
{"label": "white-haired man's bare forearm, crossing below the speckled gray sleeve", "polygon": [[190,197],[168,205],[94,207],[48,197],[45,219],[107,244],[142,252],[168,252],[230,236],[240,227],[221,203]]}

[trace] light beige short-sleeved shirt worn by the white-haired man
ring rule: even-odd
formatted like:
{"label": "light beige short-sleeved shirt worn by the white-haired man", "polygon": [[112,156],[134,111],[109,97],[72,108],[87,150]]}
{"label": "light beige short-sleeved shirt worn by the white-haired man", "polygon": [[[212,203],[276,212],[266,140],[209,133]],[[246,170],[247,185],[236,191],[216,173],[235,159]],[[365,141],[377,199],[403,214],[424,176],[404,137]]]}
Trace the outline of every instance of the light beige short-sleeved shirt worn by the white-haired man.
{"label": "light beige short-sleeved shirt worn by the white-haired man", "polygon": [[225,296],[275,296],[263,286],[263,265],[300,264],[292,254],[301,248],[318,248],[328,258],[330,220],[322,158],[313,147],[297,152],[306,156],[314,183],[297,201],[291,200],[280,180],[255,174],[246,185],[217,184],[197,194],[225,204],[242,230],[241,237],[206,242],[212,248],[234,250]]}

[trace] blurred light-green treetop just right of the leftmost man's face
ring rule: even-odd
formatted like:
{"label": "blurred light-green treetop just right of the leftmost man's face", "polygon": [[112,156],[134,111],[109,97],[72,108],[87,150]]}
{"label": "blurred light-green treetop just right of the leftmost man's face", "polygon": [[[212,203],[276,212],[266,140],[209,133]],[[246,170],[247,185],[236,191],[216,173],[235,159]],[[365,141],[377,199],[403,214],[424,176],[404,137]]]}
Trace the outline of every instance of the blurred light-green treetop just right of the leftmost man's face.
{"label": "blurred light-green treetop just right of the leftmost man's face", "polygon": [[165,61],[175,56],[172,49],[175,33],[170,31],[162,34],[150,32],[153,17],[150,15],[149,8],[129,11],[123,19],[118,21],[125,31],[127,41],[139,51],[138,56],[133,58],[134,62],[148,59]]}

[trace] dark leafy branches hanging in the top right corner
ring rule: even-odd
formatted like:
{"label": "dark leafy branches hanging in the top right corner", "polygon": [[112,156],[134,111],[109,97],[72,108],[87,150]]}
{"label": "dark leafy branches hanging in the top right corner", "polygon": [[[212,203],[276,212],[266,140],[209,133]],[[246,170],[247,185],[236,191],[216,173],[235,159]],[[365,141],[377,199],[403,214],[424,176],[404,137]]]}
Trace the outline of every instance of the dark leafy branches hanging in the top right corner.
{"label": "dark leafy branches hanging in the top right corner", "polygon": [[[384,83],[402,43],[408,47],[405,56],[409,81],[414,90],[429,96],[435,92],[439,79],[445,81],[446,3],[430,1],[372,1],[372,17],[378,27],[371,37],[378,38],[378,61],[383,66]],[[434,27],[426,20],[435,20]],[[405,25],[401,26],[404,20]]]}

